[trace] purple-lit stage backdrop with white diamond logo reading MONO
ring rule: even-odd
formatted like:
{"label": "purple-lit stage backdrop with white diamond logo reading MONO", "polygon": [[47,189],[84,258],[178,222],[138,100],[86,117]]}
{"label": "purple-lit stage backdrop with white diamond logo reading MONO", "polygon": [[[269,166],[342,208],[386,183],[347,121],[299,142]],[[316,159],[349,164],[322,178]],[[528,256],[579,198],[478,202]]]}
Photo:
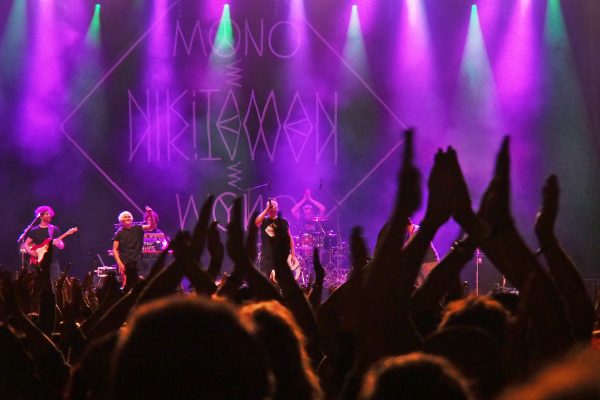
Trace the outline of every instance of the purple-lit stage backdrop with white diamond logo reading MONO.
{"label": "purple-lit stage backdrop with white diamond logo reading MONO", "polygon": [[[305,189],[325,229],[346,240],[362,225],[372,247],[413,126],[423,183],[453,145],[474,204],[510,134],[517,225],[536,247],[540,188],[557,173],[559,235],[597,276],[596,3],[2,1],[0,260],[18,264],[40,204],[79,227],[61,258],[81,274],[97,255],[113,262],[122,210],[140,220],[150,205],[173,234],[212,193],[224,231],[236,197],[246,220],[268,196],[292,219]],[[442,229],[440,255],[459,234]]]}

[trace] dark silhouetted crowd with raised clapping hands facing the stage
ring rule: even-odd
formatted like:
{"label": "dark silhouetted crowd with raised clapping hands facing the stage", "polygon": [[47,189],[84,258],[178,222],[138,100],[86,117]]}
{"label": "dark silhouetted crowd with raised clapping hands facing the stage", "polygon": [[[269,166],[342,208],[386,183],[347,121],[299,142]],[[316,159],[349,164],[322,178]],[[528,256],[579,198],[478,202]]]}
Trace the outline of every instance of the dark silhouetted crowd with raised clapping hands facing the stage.
{"label": "dark silhouetted crowd with raised clapping hands facing the stage", "polygon": [[[124,288],[91,273],[53,284],[50,246],[39,269],[0,273],[0,399],[600,399],[598,315],[554,234],[557,178],[542,189],[536,255],[511,216],[509,165],[506,138],[474,211],[455,150],[439,150],[425,216],[405,242],[422,200],[408,131],[375,250],[355,227],[349,278],[324,302],[318,252],[302,288],[287,232],[273,239],[276,283],[257,270],[257,227],[251,218],[244,229],[240,199],[225,245],[209,197],[194,231],[172,240],[173,260],[165,251],[144,279],[127,268]],[[416,287],[450,218],[465,235]],[[464,293],[476,248],[518,294]]]}

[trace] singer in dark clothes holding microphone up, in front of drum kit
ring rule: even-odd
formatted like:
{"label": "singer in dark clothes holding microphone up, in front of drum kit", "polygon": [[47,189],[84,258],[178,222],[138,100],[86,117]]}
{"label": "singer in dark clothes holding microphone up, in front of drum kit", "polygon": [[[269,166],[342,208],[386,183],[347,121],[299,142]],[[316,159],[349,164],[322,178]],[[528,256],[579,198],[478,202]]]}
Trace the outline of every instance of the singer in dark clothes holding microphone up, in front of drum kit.
{"label": "singer in dark clothes holding microphone up, in front of drum kit", "polygon": [[287,231],[290,235],[290,254],[292,255],[291,263],[296,262],[296,251],[294,249],[294,240],[290,232],[290,224],[281,215],[277,214],[279,205],[277,200],[269,199],[267,201],[267,207],[263,212],[258,214],[258,217],[254,220],[256,226],[260,229],[260,238],[262,242],[261,255],[260,255],[260,272],[266,277],[271,275],[273,270],[273,238],[277,231]]}

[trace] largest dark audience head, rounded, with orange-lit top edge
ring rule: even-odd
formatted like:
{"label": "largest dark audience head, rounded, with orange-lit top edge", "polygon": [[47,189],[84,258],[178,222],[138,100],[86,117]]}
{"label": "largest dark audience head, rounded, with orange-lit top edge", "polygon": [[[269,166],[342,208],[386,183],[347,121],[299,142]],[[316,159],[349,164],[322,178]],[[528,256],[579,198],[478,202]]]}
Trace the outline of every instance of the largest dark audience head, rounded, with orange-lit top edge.
{"label": "largest dark audience head, rounded, with orange-lit top edge", "polygon": [[113,359],[114,399],[262,399],[259,345],[224,303],[168,297],[139,307]]}

